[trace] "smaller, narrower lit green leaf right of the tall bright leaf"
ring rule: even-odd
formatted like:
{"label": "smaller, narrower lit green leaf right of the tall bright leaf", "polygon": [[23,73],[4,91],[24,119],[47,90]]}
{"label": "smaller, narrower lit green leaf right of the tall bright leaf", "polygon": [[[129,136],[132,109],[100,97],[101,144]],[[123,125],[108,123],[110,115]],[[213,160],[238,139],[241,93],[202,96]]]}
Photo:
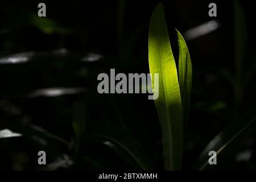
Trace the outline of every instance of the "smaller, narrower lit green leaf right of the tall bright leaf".
{"label": "smaller, narrower lit green leaf right of the tall bright leaf", "polygon": [[183,39],[183,36],[180,34],[179,31],[177,31],[177,38],[179,43],[179,84],[183,111],[183,128],[185,131],[188,123],[190,106],[192,64],[187,44],[185,43],[185,40]]}

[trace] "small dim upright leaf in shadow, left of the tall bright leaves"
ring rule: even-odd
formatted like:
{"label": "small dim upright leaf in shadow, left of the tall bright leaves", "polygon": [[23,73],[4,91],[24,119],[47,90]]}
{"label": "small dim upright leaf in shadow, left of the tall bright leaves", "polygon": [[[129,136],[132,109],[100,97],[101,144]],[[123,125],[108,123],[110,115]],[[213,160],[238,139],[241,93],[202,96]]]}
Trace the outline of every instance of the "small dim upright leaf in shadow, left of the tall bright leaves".
{"label": "small dim upright leaf in shadow, left of the tall bright leaves", "polygon": [[81,137],[86,126],[86,115],[84,102],[75,102],[72,107],[72,126],[76,135],[76,152],[80,148]]}

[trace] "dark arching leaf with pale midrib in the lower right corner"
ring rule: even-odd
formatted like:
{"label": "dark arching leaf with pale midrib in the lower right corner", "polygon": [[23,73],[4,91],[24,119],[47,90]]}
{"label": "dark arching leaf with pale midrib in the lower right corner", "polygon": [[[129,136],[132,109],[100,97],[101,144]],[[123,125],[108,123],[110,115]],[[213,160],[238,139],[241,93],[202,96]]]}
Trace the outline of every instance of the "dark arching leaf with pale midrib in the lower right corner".
{"label": "dark arching leaf with pale midrib in the lower right corner", "polygon": [[[208,159],[209,151],[216,151],[218,159],[223,156],[233,144],[237,143],[237,140],[246,132],[251,129],[251,127],[255,126],[256,118],[247,120],[241,118],[240,122],[232,123],[225,130],[221,131],[216,137],[210,141],[207,147],[201,152],[199,158],[196,160],[193,169],[194,170],[203,170],[207,168],[209,165]],[[245,121],[245,122],[243,122]]]}

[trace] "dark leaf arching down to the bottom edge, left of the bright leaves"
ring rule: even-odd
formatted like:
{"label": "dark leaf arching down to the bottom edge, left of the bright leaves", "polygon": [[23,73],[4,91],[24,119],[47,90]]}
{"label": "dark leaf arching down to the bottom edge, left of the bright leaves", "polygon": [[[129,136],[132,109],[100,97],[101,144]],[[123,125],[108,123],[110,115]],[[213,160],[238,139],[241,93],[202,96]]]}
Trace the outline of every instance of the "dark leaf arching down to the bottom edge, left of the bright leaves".
{"label": "dark leaf arching down to the bottom edge, left of the bright leaves", "polygon": [[154,169],[147,152],[123,127],[110,122],[94,123],[94,125],[94,129],[91,129],[92,134],[85,138],[85,142],[105,144],[135,169]]}

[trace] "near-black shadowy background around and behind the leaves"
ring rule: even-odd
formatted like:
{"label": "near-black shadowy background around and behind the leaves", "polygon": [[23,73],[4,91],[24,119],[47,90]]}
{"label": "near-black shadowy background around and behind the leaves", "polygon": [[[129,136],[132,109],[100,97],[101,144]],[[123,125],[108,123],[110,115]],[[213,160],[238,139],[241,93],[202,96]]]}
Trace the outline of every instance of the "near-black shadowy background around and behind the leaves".
{"label": "near-black shadowy background around and behind the leaves", "polygon": [[[90,135],[101,133],[106,123],[113,125],[108,132],[120,135],[123,142],[131,142],[122,132],[127,131],[154,168],[163,169],[161,129],[154,102],[147,100],[147,94],[97,93],[98,73],[108,73],[110,68],[122,73],[149,73],[148,26],[159,2],[162,1],[44,1],[46,18],[37,16],[39,1],[1,2],[0,130],[11,129],[23,137],[0,139],[0,169],[52,169],[49,164],[57,166],[54,169],[66,170],[137,169],[129,158],[104,144],[107,140],[90,139]],[[185,170],[191,169],[215,135],[230,123],[243,120],[245,111],[250,109],[254,114],[255,110],[253,2],[241,2],[246,34],[242,35],[245,46],[240,45],[241,50],[245,49],[244,53],[240,50],[240,65],[235,61],[239,51],[234,51],[237,42],[233,1],[213,1],[217,4],[214,18],[208,16],[210,2],[163,1],[176,60],[175,28],[183,34],[209,20],[220,22],[216,31],[187,41],[193,84],[185,137]],[[83,60],[92,54],[100,59]],[[26,63],[4,61],[15,56],[29,59]],[[237,67],[241,68],[242,76],[237,75]],[[241,81],[236,82],[239,78]],[[38,89],[45,88],[59,88],[63,94],[49,97],[43,91],[38,93]],[[64,92],[67,88],[73,88],[75,93]],[[79,151],[74,150],[72,127],[75,102],[83,102],[86,113]],[[249,130],[211,169],[254,170],[254,131]],[[68,145],[48,133],[67,140]],[[47,153],[47,166],[37,163],[40,150]],[[239,160],[240,154],[250,157]],[[73,163],[67,163],[65,158]]]}

